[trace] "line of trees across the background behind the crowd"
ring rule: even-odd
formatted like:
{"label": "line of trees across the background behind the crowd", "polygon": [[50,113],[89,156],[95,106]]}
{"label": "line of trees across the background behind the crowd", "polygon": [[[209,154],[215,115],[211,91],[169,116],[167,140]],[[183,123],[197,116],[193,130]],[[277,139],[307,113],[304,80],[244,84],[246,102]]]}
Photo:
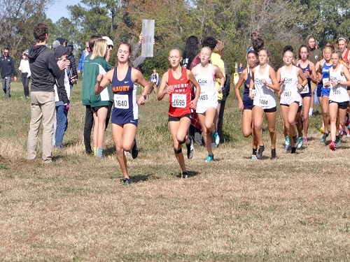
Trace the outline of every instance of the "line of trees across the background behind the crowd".
{"label": "line of trees across the background behind the crowd", "polygon": [[[281,65],[283,46],[295,50],[309,34],[318,45],[335,43],[339,35],[350,36],[350,1],[348,0],[82,0],[67,6],[69,18],[52,22],[45,10],[54,0],[2,0],[0,3],[0,49],[10,47],[13,57],[21,57],[34,39],[34,24],[49,25],[50,44],[62,36],[78,47],[93,34],[137,43],[142,20],[155,20],[155,55],[146,59],[141,71],[160,73],[168,68],[171,48],[183,49],[186,38],[194,35],[202,41],[214,36],[225,41],[223,59],[232,72],[235,62],[244,61],[251,31],[262,34],[270,50],[272,66]],[[111,64],[116,61],[113,52]],[[19,59],[17,59],[19,60]],[[18,61],[19,63],[19,61]]]}

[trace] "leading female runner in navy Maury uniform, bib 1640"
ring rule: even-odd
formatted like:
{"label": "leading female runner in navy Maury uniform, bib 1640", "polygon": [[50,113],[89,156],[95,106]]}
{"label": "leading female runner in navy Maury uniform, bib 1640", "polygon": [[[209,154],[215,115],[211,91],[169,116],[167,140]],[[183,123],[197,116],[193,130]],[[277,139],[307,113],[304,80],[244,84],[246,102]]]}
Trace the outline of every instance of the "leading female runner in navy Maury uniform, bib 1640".
{"label": "leading female runner in navy Maury uniform, bib 1640", "polygon": [[[132,158],[136,159],[139,149],[135,140],[137,123],[139,119],[139,105],[144,105],[148,84],[142,73],[129,65],[132,48],[129,43],[120,43],[117,54],[116,68],[108,71],[106,75],[97,75],[97,84],[94,87],[95,94],[100,94],[110,83],[112,84],[114,108],[112,112],[112,135],[116,144],[117,159],[124,175],[120,181],[123,185],[130,184],[127,172],[127,159],[124,151],[132,151]],[[144,90],[137,101],[137,85]]]}

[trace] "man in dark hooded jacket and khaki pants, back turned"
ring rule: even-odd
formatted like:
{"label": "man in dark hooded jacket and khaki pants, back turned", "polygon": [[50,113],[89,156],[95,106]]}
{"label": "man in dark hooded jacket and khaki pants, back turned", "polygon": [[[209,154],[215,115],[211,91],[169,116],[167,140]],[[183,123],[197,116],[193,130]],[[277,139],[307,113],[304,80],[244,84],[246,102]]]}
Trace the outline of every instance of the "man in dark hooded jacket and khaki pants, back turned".
{"label": "man in dark hooded jacket and khaki pants, back turned", "polygon": [[55,115],[55,79],[66,68],[66,61],[56,61],[55,55],[46,48],[48,26],[36,24],[34,27],[36,44],[29,49],[29,67],[31,71],[31,121],[28,133],[28,159],[35,159],[38,144],[38,131],[43,119],[43,162],[52,161],[52,133]]}

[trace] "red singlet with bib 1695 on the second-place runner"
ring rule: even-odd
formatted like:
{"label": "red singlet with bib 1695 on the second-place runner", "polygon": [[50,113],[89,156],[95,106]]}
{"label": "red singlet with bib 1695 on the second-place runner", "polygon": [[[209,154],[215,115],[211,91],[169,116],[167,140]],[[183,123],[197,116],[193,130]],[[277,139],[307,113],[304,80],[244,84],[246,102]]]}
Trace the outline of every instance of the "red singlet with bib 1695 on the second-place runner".
{"label": "red singlet with bib 1695 on the second-place runner", "polygon": [[181,77],[175,79],[172,69],[168,71],[168,86],[174,87],[174,92],[169,94],[169,112],[172,117],[182,117],[190,114],[191,88],[190,80],[187,78],[187,69],[181,68]]}

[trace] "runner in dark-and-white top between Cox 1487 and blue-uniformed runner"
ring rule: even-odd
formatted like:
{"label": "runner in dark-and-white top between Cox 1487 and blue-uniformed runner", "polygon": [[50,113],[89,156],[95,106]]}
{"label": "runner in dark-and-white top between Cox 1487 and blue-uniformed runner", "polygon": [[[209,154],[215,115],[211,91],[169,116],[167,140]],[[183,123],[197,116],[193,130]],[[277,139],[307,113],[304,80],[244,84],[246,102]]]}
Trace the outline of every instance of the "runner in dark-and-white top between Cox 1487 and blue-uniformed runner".
{"label": "runner in dark-and-white top between Cox 1487 and blue-uniformed runner", "polygon": [[309,45],[300,45],[299,61],[297,61],[297,66],[302,68],[302,73],[304,73],[305,77],[307,78],[307,84],[300,92],[303,105],[302,117],[304,126],[304,138],[298,138],[298,148],[302,146],[302,143],[307,143],[307,131],[309,130],[309,110],[311,106],[311,81],[317,84],[315,65],[309,60],[309,52]]}

